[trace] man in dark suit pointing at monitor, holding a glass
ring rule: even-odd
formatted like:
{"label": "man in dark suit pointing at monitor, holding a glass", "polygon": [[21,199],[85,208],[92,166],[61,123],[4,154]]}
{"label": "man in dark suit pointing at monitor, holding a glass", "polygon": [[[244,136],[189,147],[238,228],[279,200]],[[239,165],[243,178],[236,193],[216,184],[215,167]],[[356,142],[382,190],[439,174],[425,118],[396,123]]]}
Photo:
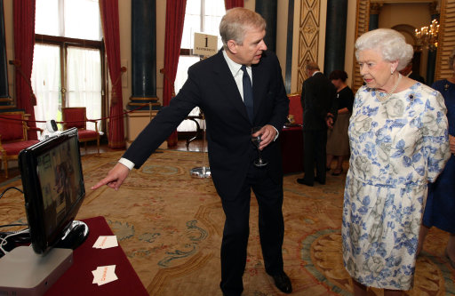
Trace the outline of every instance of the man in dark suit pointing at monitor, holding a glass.
{"label": "man in dark suit pointing at monitor, holding a glass", "polygon": [[[291,292],[283,271],[283,168],[279,141],[288,115],[279,62],[264,43],[266,22],[243,8],[229,10],[220,22],[223,49],[188,70],[180,92],[140,133],[119,164],[92,188],[118,189],[129,168],[139,168],[188,113],[198,106],[207,126],[212,180],[221,198],[226,221],[221,244],[221,283],[224,295],[239,296],[246,264],[251,189],[259,204],[259,236],[267,274],[282,292]],[[252,76],[252,89],[251,89]],[[251,128],[262,126],[259,149],[268,164],[253,164],[258,150]],[[202,292],[204,294],[204,292]]]}

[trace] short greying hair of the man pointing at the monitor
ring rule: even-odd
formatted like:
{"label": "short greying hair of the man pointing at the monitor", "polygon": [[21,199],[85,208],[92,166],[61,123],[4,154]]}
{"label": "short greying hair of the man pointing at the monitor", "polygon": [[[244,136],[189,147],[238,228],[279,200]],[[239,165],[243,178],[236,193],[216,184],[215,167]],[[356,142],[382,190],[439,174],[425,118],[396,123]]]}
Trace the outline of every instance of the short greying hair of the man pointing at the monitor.
{"label": "short greying hair of the man pointing at the monitor", "polygon": [[266,20],[259,13],[243,7],[229,9],[220,22],[220,36],[225,50],[228,49],[229,40],[243,45],[243,38],[251,28],[265,30]]}

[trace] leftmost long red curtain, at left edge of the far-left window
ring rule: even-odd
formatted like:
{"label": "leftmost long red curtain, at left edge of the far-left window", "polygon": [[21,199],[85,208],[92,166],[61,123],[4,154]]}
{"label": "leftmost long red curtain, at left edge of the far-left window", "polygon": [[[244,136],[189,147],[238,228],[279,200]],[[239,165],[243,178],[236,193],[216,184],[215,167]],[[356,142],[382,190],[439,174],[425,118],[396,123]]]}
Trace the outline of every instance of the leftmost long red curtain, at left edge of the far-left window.
{"label": "leftmost long red curtain, at left edge of the far-left window", "polygon": [[[33,50],[35,46],[35,0],[12,1],[14,28],[14,66],[16,68],[14,84],[16,87],[17,107],[30,114],[29,120],[35,120],[34,106],[36,97],[31,88]],[[35,122],[28,123],[35,127]],[[36,131],[28,131],[28,139],[36,140]]]}

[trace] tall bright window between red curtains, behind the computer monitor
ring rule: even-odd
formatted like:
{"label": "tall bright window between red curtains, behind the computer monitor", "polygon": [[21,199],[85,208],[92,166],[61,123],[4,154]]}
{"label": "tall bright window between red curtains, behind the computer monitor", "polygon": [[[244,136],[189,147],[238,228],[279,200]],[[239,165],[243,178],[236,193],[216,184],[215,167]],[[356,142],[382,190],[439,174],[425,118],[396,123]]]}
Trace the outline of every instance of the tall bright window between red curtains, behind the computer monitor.
{"label": "tall bright window between red curtains, behind the computer monitor", "polygon": [[98,0],[36,0],[35,36],[36,120],[61,121],[62,107],[85,107],[87,118],[102,117],[106,77]]}

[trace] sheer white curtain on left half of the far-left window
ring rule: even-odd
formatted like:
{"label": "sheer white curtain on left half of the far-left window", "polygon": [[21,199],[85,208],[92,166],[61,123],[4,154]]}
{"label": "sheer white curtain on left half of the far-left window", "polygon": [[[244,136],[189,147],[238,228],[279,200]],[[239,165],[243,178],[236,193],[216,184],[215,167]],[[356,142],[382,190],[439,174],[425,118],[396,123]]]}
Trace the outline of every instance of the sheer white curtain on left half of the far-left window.
{"label": "sheer white curtain on left half of the far-left window", "polygon": [[[61,121],[60,108],[55,108],[61,105],[59,45],[35,44],[31,83],[36,95],[36,120]],[[36,126],[45,129],[45,124]]]}

